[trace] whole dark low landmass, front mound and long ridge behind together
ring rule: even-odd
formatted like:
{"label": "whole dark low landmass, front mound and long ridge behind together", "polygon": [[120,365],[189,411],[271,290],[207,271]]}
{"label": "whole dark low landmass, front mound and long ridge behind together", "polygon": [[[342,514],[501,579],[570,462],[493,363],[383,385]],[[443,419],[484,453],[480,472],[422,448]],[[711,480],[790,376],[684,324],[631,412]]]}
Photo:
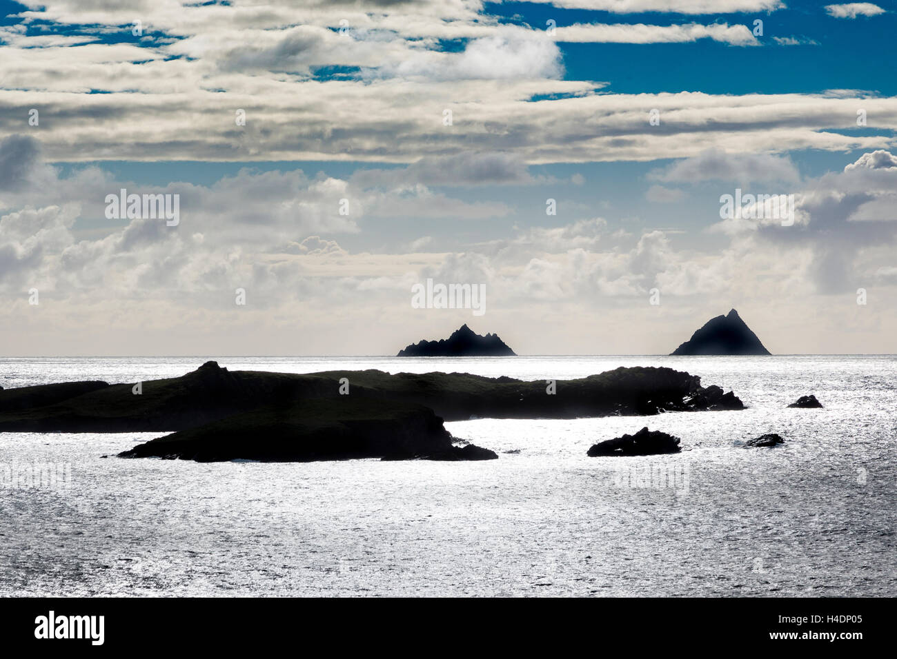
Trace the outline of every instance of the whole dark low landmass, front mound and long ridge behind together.
{"label": "whole dark low landmass, front mound and long ridge behind together", "polygon": [[[65,391],[64,386],[74,393],[64,400],[58,399],[62,394],[41,398],[47,386],[0,391],[0,432],[174,431],[123,455],[204,461],[457,460],[483,459],[492,452],[455,447],[443,420],[744,408],[732,392],[701,386],[701,377],[655,367],[621,367],[546,387],[541,380],[467,373],[231,372],[208,361],[181,377],[144,381],[141,394],[130,383],[63,383],[54,391]],[[340,394],[346,387],[348,394]],[[36,403],[25,408],[23,400]]]}

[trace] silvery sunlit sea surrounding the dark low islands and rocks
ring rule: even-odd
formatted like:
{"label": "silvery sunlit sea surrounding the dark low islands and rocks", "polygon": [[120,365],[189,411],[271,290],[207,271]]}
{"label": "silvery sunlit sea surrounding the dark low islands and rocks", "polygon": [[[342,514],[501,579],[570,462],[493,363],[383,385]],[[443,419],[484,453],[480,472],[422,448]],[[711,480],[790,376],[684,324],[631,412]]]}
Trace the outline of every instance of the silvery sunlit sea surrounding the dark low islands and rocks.
{"label": "silvery sunlit sea surrounding the dark low islands and rocks", "polygon": [[[9,358],[0,385],[207,359]],[[160,434],[0,433],[0,595],[897,594],[895,356],[218,361],[533,380],[669,366],[748,409],[448,423],[500,455],[474,463],[122,460],[104,455]],[[824,408],[786,407],[805,394]],[[643,426],[683,452],[586,456]],[[740,446],[766,432],[787,443]]]}

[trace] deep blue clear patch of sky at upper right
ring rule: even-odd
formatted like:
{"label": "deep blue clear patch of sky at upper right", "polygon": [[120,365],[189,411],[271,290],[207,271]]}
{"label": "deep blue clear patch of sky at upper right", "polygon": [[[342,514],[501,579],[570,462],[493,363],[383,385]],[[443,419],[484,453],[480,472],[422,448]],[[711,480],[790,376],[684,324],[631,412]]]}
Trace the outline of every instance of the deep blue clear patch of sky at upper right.
{"label": "deep blue clear patch of sky at upper right", "polygon": [[[688,44],[562,44],[565,77],[609,82],[621,93],[706,91],[714,94],[821,92],[830,89],[897,90],[893,45],[897,13],[833,18],[819,2],[788,2],[771,13],[717,13],[701,16],[710,22],[763,22],[762,48],[732,48],[707,39]],[[887,3],[881,4],[887,7]],[[550,4],[487,4],[489,12],[509,22],[543,26],[574,22],[651,23],[694,22],[695,16],[669,13],[608,13],[563,10]],[[806,45],[781,46],[773,38],[806,40]]]}

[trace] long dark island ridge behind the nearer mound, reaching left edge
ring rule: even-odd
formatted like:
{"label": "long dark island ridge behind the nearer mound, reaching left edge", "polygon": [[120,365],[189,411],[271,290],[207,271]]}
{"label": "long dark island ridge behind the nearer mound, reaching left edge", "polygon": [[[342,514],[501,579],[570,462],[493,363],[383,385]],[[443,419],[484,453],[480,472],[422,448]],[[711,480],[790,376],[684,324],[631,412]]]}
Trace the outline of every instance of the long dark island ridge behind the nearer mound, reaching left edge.
{"label": "long dark island ridge behind the nearer mound, reaching left edge", "polygon": [[[340,396],[341,378],[351,394]],[[575,380],[483,377],[468,373],[398,373],[380,370],[295,374],[228,371],[210,361],[181,377],[104,386],[57,403],[0,412],[0,432],[156,432],[196,428],[263,405],[311,398],[371,398],[429,407],[446,421],[471,417],[575,419],[658,412],[736,410],[744,406],[701,377],[655,367],[619,368]],[[22,387],[3,395],[28,395]]]}

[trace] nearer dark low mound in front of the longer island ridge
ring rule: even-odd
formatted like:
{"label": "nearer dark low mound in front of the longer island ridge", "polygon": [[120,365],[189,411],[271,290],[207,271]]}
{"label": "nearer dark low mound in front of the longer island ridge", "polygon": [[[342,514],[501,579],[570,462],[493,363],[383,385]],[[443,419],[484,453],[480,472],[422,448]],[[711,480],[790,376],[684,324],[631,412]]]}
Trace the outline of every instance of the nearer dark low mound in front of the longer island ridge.
{"label": "nearer dark low mound in front of the longer island ridge", "polygon": [[[310,462],[350,458],[477,460],[492,451],[452,445],[442,420],[422,405],[337,396],[275,403],[180,430],[120,457],[220,462]],[[495,454],[492,454],[495,455]]]}

